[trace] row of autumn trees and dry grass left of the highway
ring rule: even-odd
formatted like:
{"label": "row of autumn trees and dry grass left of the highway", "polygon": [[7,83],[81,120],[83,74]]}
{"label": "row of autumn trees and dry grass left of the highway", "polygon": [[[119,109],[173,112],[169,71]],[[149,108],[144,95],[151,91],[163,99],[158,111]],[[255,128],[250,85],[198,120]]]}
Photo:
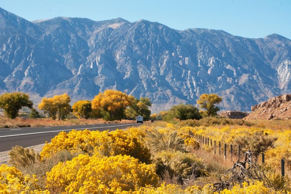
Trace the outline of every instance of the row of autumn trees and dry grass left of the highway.
{"label": "row of autumn trees and dry grass left of the highway", "polygon": [[[0,128],[40,127],[96,123],[125,123],[137,115],[150,120],[150,99],[136,99],[118,90],[100,92],[92,101],[80,100],[70,105],[68,94],[43,98],[37,111],[22,92],[5,93],[0,96]],[[130,121],[131,120],[131,121]]]}

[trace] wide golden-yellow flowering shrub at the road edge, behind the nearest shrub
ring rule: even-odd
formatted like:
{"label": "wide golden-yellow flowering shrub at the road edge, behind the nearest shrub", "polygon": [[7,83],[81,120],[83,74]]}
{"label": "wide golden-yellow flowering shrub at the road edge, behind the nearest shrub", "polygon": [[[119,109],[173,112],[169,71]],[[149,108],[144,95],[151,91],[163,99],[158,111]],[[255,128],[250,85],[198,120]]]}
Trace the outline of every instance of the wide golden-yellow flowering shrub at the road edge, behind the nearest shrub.
{"label": "wide golden-yellow flowering shrub at the road edge, behind the nearest shrub", "polygon": [[104,156],[130,155],[141,162],[150,162],[150,152],[139,139],[139,134],[123,130],[115,131],[76,131],[68,134],[60,132],[51,143],[45,144],[40,156],[51,157],[53,153],[67,149],[71,152],[81,150],[89,155],[98,152]]}

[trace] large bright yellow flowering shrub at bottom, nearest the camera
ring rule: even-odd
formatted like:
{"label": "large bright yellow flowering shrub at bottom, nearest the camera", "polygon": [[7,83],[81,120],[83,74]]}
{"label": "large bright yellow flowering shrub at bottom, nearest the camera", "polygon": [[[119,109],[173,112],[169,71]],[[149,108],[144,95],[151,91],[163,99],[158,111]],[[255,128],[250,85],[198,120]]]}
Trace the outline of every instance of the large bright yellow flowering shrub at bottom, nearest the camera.
{"label": "large bright yellow flowering shrub at bottom, nearest the camera", "polygon": [[47,172],[47,188],[59,193],[116,193],[156,186],[155,165],[140,163],[131,156],[92,157],[80,154],[72,161],[60,162]]}

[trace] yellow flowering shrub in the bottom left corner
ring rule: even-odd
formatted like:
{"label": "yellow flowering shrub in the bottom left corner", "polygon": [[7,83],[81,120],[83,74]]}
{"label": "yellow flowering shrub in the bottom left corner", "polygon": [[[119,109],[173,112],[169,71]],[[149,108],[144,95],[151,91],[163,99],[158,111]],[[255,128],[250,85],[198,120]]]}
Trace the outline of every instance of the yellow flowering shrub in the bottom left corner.
{"label": "yellow flowering shrub in the bottom left corner", "polygon": [[49,194],[49,191],[41,191],[36,176],[23,176],[15,167],[6,164],[0,166],[0,193],[7,194]]}

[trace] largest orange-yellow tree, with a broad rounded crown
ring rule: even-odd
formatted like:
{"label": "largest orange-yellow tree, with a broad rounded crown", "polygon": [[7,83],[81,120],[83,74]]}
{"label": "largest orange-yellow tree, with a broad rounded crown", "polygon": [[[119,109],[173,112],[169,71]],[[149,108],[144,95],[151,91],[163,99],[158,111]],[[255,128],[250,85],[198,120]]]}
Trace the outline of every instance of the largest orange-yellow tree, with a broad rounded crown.
{"label": "largest orange-yellow tree, with a broad rounded crown", "polygon": [[125,115],[125,108],[132,104],[133,96],[118,90],[105,90],[92,100],[92,108],[100,110],[105,120],[121,120]]}

